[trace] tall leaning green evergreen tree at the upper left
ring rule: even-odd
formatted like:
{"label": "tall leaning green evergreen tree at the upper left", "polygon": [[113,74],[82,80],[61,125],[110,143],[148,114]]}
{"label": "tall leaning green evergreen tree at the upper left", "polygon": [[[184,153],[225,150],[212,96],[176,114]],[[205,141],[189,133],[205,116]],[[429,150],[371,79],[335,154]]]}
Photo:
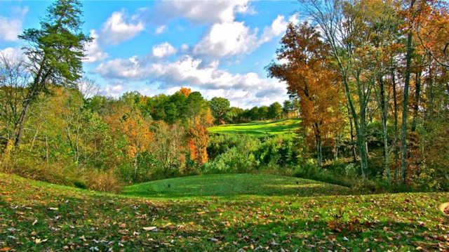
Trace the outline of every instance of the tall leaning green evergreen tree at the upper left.
{"label": "tall leaning green evergreen tree at the upper left", "polygon": [[27,42],[23,49],[29,60],[32,81],[14,124],[15,146],[20,144],[29,106],[49,85],[74,86],[81,78],[83,46],[90,38],[81,32],[81,3],[58,0],[47,10],[40,29],[25,29],[19,36]]}

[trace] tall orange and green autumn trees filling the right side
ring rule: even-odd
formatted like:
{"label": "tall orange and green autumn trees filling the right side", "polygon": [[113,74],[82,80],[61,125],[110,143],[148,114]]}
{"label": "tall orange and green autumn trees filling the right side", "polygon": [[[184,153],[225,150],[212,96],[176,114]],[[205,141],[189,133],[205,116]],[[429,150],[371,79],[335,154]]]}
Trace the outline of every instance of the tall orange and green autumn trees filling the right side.
{"label": "tall orange and green autumn trees filling the right side", "polygon": [[316,164],[349,142],[363,179],[447,189],[447,2],[300,2],[311,23],[289,25],[267,70],[299,98]]}

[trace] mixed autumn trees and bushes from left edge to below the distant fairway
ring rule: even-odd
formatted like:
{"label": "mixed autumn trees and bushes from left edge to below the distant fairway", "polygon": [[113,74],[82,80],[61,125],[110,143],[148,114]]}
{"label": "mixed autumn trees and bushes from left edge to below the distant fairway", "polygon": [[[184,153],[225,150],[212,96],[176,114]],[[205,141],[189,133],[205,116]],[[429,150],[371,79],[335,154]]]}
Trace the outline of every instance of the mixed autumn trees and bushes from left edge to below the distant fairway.
{"label": "mixed autumn trees and bushes from left edge to below the distant fairway", "polygon": [[121,185],[180,175],[267,167],[281,171],[302,160],[300,138],[210,138],[212,102],[189,88],[173,95],[130,92],[120,98],[79,89],[49,86],[41,93],[29,107],[20,145],[15,147],[13,126],[22,107],[20,98],[29,89],[0,88],[1,171],[117,191]]}

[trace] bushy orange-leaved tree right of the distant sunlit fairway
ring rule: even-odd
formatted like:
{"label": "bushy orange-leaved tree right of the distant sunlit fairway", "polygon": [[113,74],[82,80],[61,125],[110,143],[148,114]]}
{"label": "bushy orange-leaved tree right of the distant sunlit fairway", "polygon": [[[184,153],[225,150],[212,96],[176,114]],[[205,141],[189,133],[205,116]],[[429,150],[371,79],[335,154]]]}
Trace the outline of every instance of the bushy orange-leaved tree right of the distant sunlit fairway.
{"label": "bushy orange-leaved tree right of the distant sunlit fairway", "polygon": [[290,24],[276,54],[288,63],[269,65],[269,75],[286,81],[288,93],[300,98],[302,124],[313,128],[316,161],[321,166],[322,138],[333,130],[340,117],[339,82],[335,71],[328,67],[328,45],[307,22]]}

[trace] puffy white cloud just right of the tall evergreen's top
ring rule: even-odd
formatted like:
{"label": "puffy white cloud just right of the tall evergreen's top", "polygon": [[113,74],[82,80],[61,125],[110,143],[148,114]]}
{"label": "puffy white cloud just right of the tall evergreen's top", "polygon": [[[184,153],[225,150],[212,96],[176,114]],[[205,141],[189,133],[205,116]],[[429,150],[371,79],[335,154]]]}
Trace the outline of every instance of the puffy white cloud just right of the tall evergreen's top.
{"label": "puffy white cloud just right of the tall evergreen's top", "polygon": [[106,44],[120,44],[132,39],[145,29],[137,16],[127,18],[124,11],[116,11],[106,20],[102,27],[101,39]]}

